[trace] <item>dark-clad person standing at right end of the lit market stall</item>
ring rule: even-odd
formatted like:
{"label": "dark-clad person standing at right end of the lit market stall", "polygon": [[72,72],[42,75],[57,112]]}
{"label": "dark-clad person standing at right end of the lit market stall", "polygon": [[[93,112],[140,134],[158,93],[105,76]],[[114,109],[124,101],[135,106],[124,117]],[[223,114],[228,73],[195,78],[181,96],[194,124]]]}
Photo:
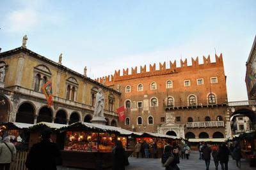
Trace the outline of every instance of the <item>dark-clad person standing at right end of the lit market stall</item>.
{"label": "dark-clad person standing at right end of the lit market stall", "polygon": [[121,141],[116,141],[116,146],[112,150],[113,153],[113,166],[112,170],[125,169],[125,150]]}

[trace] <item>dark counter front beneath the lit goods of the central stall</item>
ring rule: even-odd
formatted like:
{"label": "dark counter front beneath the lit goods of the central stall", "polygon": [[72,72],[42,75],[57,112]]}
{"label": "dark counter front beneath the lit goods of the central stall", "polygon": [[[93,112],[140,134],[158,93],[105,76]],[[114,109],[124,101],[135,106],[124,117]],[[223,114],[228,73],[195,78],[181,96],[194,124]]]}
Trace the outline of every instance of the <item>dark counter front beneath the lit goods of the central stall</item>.
{"label": "dark counter front beneath the lit goods of the central stall", "polygon": [[[127,156],[131,155],[133,150],[125,150]],[[61,150],[62,164],[66,167],[79,167],[86,169],[96,169],[97,152],[80,152]],[[112,152],[99,152],[102,160],[102,168],[112,167]]]}

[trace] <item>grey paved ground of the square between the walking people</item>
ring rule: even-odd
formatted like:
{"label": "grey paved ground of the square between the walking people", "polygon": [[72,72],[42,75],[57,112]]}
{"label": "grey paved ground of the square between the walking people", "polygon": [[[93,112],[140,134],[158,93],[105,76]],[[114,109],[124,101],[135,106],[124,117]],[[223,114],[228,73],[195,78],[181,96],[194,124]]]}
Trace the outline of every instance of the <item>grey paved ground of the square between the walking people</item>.
{"label": "grey paved ground of the square between the walking people", "polygon": [[[134,157],[129,157],[129,166],[125,167],[125,170],[164,170],[164,167],[162,167],[161,164],[161,159],[142,159],[142,158],[134,158]],[[178,165],[181,170],[183,169],[189,169],[189,170],[199,170],[199,169],[205,169],[205,163],[204,160],[199,160],[198,159],[198,153],[194,152],[191,153],[191,156],[189,159],[184,160],[180,159],[180,164]],[[72,167],[58,167],[58,170],[81,170],[81,169],[76,169]],[[210,170],[214,170],[214,162],[211,160],[210,164]],[[219,165],[219,169],[221,169]],[[236,161],[232,160],[230,157],[229,162],[228,162],[228,169],[231,170],[236,170],[239,169],[236,167]],[[242,159],[241,160],[241,169],[242,170],[256,170],[256,167],[250,167],[249,162]],[[106,169],[106,170],[111,170],[111,169]]]}

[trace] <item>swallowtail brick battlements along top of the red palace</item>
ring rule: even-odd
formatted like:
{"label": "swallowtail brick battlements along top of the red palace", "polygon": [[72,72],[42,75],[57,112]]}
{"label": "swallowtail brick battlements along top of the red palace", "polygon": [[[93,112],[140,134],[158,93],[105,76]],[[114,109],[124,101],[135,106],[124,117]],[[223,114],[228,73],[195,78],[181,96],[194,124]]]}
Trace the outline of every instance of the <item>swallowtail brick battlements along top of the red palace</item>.
{"label": "swallowtail brick battlements along top of the red palace", "polygon": [[170,67],[166,68],[166,62],[159,62],[159,69],[156,69],[156,63],[149,65],[149,71],[147,71],[146,65],[140,66],[140,73],[138,73],[138,67],[132,67],[131,68],[131,74],[129,74],[129,69],[123,69],[123,74],[120,75],[120,69],[118,71],[115,71],[114,75],[104,76],[101,78],[95,79],[95,81],[98,81],[100,83],[103,83],[107,86],[114,85],[114,81],[120,81],[120,80],[128,80],[132,78],[141,78],[145,76],[155,76],[160,74],[175,74],[180,73],[182,71],[190,71],[193,69],[207,69],[209,67],[223,67],[223,58],[222,53],[220,54],[220,57],[218,55],[215,55],[216,62],[211,62],[210,55],[206,58],[203,57],[204,63],[199,64],[198,57],[196,59],[191,58],[192,65],[188,66],[188,60],[182,60],[180,59],[180,67],[177,67],[176,60],[174,62],[170,61]]}

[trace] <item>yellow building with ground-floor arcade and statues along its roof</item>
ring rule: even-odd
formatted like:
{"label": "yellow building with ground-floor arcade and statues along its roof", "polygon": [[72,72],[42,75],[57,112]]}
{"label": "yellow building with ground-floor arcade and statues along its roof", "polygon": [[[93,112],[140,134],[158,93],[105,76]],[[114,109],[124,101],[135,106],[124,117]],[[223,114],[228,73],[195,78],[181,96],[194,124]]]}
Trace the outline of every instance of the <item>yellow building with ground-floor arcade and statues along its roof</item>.
{"label": "yellow building with ground-floor arcade and statues along its roof", "polygon": [[[0,53],[0,122],[90,122],[100,88],[106,124],[118,126],[120,92],[88,78],[86,69],[79,74],[63,66],[62,55],[57,63],[25,45]],[[52,81],[50,108],[42,93],[42,85],[48,80]]]}

